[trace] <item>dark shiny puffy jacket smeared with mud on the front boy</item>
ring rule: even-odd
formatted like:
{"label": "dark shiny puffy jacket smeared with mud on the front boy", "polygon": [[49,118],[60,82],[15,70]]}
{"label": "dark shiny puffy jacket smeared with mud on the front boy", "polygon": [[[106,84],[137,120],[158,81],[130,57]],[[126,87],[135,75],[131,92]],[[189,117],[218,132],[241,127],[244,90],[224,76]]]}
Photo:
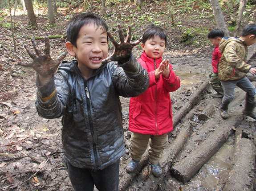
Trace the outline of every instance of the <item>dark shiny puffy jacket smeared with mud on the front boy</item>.
{"label": "dark shiny puffy jacket smeared with mud on the front boy", "polygon": [[62,62],[54,78],[41,87],[37,83],[36,107],[41,117],[63,116],[65,159],[94,170],[119,160],[125,153],[119,96],[142,94],[149,86],[146,70],[131,56],[122,67],[102,65],[86,80],[72,61]]}

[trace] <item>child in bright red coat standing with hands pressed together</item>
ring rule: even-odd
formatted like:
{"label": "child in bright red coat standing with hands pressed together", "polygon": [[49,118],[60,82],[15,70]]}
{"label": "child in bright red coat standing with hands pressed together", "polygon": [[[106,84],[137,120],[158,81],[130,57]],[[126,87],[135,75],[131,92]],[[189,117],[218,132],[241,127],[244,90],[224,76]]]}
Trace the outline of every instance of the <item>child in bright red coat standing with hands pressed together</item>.
{"label": "child in bright red coat standing with hands pressed together", "polygon": [[180,79],[172,70],[169,60],[162,60],[167,44],[165,31],[150,24],[142,39],[143,53],[138,61],[149,73],[149,88],[138,97],[130,98],[129,130],[131,161],[127,172],[134,172],[150,140],[149,160],[154,176],[162,174],[160,155],[168,141],[167,133],[173,130],[169,92],[180,87]]}

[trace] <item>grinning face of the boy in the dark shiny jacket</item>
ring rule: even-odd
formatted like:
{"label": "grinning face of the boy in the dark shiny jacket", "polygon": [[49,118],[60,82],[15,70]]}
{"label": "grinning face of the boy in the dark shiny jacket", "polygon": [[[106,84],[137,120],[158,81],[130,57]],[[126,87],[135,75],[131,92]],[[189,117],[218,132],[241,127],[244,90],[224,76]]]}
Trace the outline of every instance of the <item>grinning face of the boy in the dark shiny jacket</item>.
{"label": "grinning face of the boy in the dark shiny jacket", "polygon": [[85,78],[89,78],[108,55],[106,30],[101,26],[97,27],[94,23],[86,24],[79,31],[77,46],[67,42],[66,47],[70,55],[76,56],[81,73]]}

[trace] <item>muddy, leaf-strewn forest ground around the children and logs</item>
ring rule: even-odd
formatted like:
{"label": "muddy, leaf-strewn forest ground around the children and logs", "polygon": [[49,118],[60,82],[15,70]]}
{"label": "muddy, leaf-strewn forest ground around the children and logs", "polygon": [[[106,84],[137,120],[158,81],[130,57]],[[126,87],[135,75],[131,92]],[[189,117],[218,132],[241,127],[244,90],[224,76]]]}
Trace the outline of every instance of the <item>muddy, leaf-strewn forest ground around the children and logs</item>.
{"label": "muddy, leaf-strewn forest ground around the children and logs", "polygon": [[[120,22],[122,26],[126,27],[126,18],[130,18],[130,15],[132,15],[130,10],[135,10],[136,18],[138,15],[147,15],[146,18],[150,18],[148,15],[155,14],[156,12],[158,13],[156,15],[161,15],[160,12],[163,11],[161,6],[154,2],[143,7],[143,12],[139,12],[134,7],[134,4],[128,4],[121,13],[116,11],[117,7],[111,7],[107,10],[107,14],[111,13],[111,16],[113,17],[121,14],[122,20],[120,20]],[[173,27],[169,27],[172,22],[170,18],[168,20],[166,17],[163,17],[163,20],[161,20],[162,17],[154,18],[165,23],[164,27],[167,30],[170,42],[163,58],[170,59],[175,74],[181,78],[180,89],[170,94],[174,116],[175,113],[183,107],[186,101],[189,100],[191,95],[195,94],[201,84],[208,80],[208,74],[211,71],[211,54],[214,47],[207,39],[207,32],[215,27],[215,20],[214,17],[212,17],[212,13],[204,14],[204,17],[201,18],[200,14],[203,11],[201,9],[195,10],[197,10],[195,15],[192,13],[191,15],[186,16],[178,14],[174,15],[175,21],[179,22]],[[6,18],[5,21],[0,20],[0,190],[2,191],[72,190],[63,160],[61,119],[49,120],[38,116],[34,104],[36,100],[36,73],[30,68],[19,66],[17,62],[32,61],[23,47],[24,43],[27,43],[32,47],[28,37],[65,35],[65,27],[69,16],[71,17],[70,14],[80,11],[82,11],[82,9],[74,7],[60,9],[59,15],[56,16],[57,26],[49,27],[47,24],[47,15],[45,15],[47,13],[46,8],[38,8],[36,12],[38,27],[29,27],[27,24],[27,16],[24,15],[23,12],[17,10],[15,16],[16,52],[13,51],[14,47],[12,43],[11,29],[10,27],[6,27],[6,22],[9,19],[8,14],[4,16],[4,13],[2,12],[0,15],[2,18]],[[92,11],[97,12],[96,8],[92,8]],[[135,16],[135,13],[132,13]],[[114,19],[111,19],[111,16],[106,18],[106,22],[114,35],[116,35],[114,29],[116,28],[116,23],[113,22]],[[256,16],[254,15],[252,19],[255,20]],[[247,24],[247,20],[244,20],[243,22]],[[148,23],[150,23],[150,19],[148,19]],[[144,23],[144,25],[135,24],[132,26],[132,34],[137,39],[142,35],[146,23]],[[191,38],[189,35],[184,36],[186,32],[184,28],[189,28],[191,26],[194,27],[194,29],[199,28],[199,30],[200,27],[203,27],[202,30],[205,30],[206,32],[202,35],[195,30],[194,32],[191,32],[191,34],[193,34]],[[124,29],[126,30],[125,27]],[[44,39],[38,40],[37,42],[41,48],[44,47]],[[57,58],[57,56],[65,50],[65,38],[51,39],[50,43],[51,55],[53,58]],[[110,52],[111,51],[112,50],[110,50]],[[134,48],[133,53],[138,58],[141,55],[142,50],[138,46]],[[72,58],[67,56],[65,59]],[[256,58],[252,57],[250,63],[252,66],[256,66]],[[244,95],[240,90],[236,90],[236,93]],[[198,109],[195,111],[195,117],[193,118],[194,129],[191,133],[191,137],[206,123],[205,121],[199,121],[196,117],[211,102],[215,103],[213,106],[215,108],[215,114],[212,115],[211,118],[223,121],[219,116],[218,111],[221,99],[212,98],[212,94],[214,94],[213,90],[207,88],[206,92],[200,95],[201,105],[199,105]],[[231,113],[236,117],[241,118],[241,113],[236,113],[236,110],[241,111],[241,106],[244,104],[244,97],[235,97],[235,99],[236,101],[231,105]],[[120,177],[126,174],[124,168],[130,160],[128,152],[130,139],[130,132],[128,130],[129,98],[121,97],[121,103],[123,109],[124,136],[126,139],[126,155],[121,159]],[[175,139],[177,133],[179,133],[182,123],[183,121],[180,121],[174,130],[172,134],[173,139]],[[254,142],[255,133],[253,130],[256,128],[255,122],[252,119],[246,119],[239,123],[238,126],[241,124],[246,127],[249,138]],[[211,125],[213,127],[216,126],[214,122],[212,122]],[[207,136],[204,139],[206,138]],[[230,145],[231,147],[234,147],[233,140],[234,136],[228,140],[226,147]],[[199,142],[200,141],[198,140],[196,144],[199,144]],[[186,149],[187,148],[185,148],[185,150]],[[224,149],[223,152],[227,152],[228,149],[230,148],[228,147],[226,150]],[[186,152],[190,151],[185,152],[185,150],[177,156],[176,162],[188,155]],[[227,161],[230,168],[230,158],[232,158],[232,156],[226,157],[229,158]],[[216,165],[215,168],[217,168]],[[227,168],[227,170],[229,168]],[[198,174],[200,173],[207,172],[204,170]],[[227,174],[221,174],[223,177],[225,175],[227,176]],[[140,190],[144,180],[145,179],[142,179],[141,181],[138,180],[139,183],[137,183],[136,186],[130,185],[126,190]],[[158,185],[157,190],[220,191],[223,188],[225,181],[227,181],[227,177],[220,178],[215,176],[212,179],[198,178],[183,185],[168,173],[163,179],[163,182]]]}

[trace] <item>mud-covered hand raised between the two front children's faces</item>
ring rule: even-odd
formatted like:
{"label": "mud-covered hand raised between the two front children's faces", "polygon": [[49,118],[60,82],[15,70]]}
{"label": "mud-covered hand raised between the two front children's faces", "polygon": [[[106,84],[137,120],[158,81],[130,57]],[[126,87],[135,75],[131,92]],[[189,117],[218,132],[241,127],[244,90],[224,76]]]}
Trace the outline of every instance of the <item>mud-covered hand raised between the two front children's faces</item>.
{"label": "mud-covered hand raised between the two front children's faces", "polygon": [[107,35],[109,36],[110,41],[113,43],[115,50],[110,57],[102,60],[102,64],[106,64],[110,61],[120,61],[122,63],[128,62],[130,59],[130,55],[132,53],[133,47],[135,47],[142,41],[142,38],[140,38],[134,43],[130,42],[130,39],[131,39],[130,25],[128,26],[126,39],[124,39],[124,33],[122,31],[122,27],[120,24],[118,24],[118,33],[119,33],[120,43],[118,43],[118,41],[112,36],[111,32],[109,31],[107,32]]}

